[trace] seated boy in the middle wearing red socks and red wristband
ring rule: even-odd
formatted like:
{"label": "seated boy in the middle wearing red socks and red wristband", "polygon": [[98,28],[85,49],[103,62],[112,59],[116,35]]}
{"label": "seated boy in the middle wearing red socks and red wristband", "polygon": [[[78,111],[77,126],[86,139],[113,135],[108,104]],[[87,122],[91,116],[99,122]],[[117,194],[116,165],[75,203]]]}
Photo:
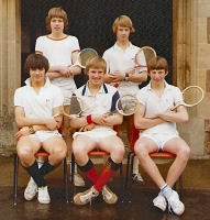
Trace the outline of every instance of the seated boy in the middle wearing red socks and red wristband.
{"label": "seated boy in the middle wearing red socks and red wristband", "polygon": [[[123,142],[112,129],[122,123],[123,117],[119,113],[110,114],[115,110],[119,92],[114,87],[103,84],[106,70],[104,59],[99,56],[90,59],[86,66],[89,80],[74,94],[82,99],[85,110],[80,118],[70,120],[70,125],[80,130],[74,134],[73,152],[80,170],[93,183],[90,189],[74,197],[76,205],[88,204],[100,191],[107,204],[115,204],[118,200],[106,184],[120,167],[124,155]],[[96,147],[110,153],[100,176],[88,157],[88,152]]]}

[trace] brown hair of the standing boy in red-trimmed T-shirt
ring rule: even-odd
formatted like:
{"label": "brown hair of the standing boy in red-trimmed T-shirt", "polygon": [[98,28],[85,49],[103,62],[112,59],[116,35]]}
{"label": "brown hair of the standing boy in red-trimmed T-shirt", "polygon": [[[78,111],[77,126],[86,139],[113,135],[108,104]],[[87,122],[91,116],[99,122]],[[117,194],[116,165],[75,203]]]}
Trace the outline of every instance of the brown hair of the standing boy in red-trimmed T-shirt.
{"label": "brown hair of the standing boy in red-trimmed T-shirt", "polygon": [[52,31],[51,30],[51,20],[53,18],[63,19],[63,21],[64,21],[64,30],[66,31],[68,29],[68,18],[67,18],[67,14],[64,11],[64,9],[62,9],[62,7],[49,9],[48,14],[46,16],[46,29],[47,29],[47,31]]}

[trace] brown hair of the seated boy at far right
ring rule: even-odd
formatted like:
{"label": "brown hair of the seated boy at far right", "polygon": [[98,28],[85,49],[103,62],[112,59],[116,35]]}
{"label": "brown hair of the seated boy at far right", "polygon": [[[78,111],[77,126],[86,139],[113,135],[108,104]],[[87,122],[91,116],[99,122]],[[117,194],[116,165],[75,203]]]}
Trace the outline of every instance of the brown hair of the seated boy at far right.
{"label": "brown hair of the seated boy at far right", "polygon": [[154,69],[165,69],[168,73],[168,63],[165,57],[156,56],[153,57],[147,65],[148,73]]}

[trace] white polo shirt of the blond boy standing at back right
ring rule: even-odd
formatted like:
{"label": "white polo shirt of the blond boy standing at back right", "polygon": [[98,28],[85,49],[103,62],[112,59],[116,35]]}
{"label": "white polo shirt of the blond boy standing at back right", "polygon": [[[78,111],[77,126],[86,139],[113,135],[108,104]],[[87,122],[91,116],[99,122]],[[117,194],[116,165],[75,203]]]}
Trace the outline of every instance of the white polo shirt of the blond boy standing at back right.
{"label": "white polo shirt of the blond boy standing at back right", "polygon": [[[107,73],[113,73],[115,70],[125,72],[135,67],[135,54],[140,47],[134,46],[130,42],[130,46],[126,50],[122,50],[115,43],[112,47],[103,53],[103,58],[107,62]],[[143,64],[146,65],[144,55],[142,56]],[[141,72],[147,70],[142,68]],[[139,90],[140,82],[133,81],[121,81],[119,84],[118,90],[121,96],[125,94],[136,95]],[[114,84],[112,84],[114,85]]]}

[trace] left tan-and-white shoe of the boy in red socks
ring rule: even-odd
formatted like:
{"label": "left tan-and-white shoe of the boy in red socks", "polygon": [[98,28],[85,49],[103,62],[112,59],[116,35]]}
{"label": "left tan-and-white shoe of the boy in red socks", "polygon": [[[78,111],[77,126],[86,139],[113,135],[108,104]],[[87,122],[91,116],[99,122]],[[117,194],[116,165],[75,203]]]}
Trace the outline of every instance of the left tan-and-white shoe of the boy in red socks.
{"label": "left tan-and-white shoe of the boy in red socks", "polygon": [[96,189],[93,189],[93,186],[92,186],[88,190],[77,194],[74,197],[74,202],[79,206],[86,205],[88,202],[90,202],[91,205],[91,200],[96,198],[98,195],[99,193]]}

